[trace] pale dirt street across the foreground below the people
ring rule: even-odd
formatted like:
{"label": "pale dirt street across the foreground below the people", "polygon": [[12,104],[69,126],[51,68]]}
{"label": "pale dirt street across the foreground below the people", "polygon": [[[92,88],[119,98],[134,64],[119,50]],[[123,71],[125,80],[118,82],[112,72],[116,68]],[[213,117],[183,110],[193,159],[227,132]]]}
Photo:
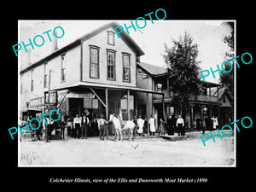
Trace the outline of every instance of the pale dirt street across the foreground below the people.
{"label": "pale dirt street across the foreground below the people", "polygon": [[133,141],[88,139],[21,142],[20,166],[234,166],[234,137],[207,141],[140,138]]}

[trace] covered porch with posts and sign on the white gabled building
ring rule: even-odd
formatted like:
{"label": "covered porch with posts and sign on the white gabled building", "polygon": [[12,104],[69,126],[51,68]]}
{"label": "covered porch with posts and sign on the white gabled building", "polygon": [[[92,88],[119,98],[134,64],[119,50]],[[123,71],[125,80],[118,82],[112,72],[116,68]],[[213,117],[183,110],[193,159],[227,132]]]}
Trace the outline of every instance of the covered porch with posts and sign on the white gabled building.
{"label": "covered porch with posts and sign on the white gabled building", "polygon": [[[84,110],[86,110],[86,113],[89,113],[90,119],[103,114],[104,119],[107,120],[110,113],[115,113],[116,116],[119,115],[119,109],[121,109],[124,120],[134,119],[138,115],[138,92],[143,92],[147,96],[149,94],[163,96],[160,92],[137,87],[80,82],[70,87],[44,92],[46,105],[50,104],[47,102],[48,100],[54,100],[49,98],[52,95],[49,93],[52,92],[56,92],[56,108],[60,111],[61,116],[71,114],[74,117],[76,113],[82,115]],[[149,117],[148,103],[145,107]],[[110,134],[114,134],[112,125],[109,125],[108,130]]]}

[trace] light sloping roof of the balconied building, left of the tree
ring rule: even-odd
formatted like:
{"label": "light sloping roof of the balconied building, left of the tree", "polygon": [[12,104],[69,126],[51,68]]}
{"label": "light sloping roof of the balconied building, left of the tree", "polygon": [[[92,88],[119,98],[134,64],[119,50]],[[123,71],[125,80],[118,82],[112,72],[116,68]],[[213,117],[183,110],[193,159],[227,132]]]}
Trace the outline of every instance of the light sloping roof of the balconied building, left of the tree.
{"label": "light sloping roof of the balconied building, left of the tree", "polygon": [[137,66],[141,67],[144,71],[152,76],[167,74],[167,67],[160,67],[148,64],[146,62],[137,62]]}

